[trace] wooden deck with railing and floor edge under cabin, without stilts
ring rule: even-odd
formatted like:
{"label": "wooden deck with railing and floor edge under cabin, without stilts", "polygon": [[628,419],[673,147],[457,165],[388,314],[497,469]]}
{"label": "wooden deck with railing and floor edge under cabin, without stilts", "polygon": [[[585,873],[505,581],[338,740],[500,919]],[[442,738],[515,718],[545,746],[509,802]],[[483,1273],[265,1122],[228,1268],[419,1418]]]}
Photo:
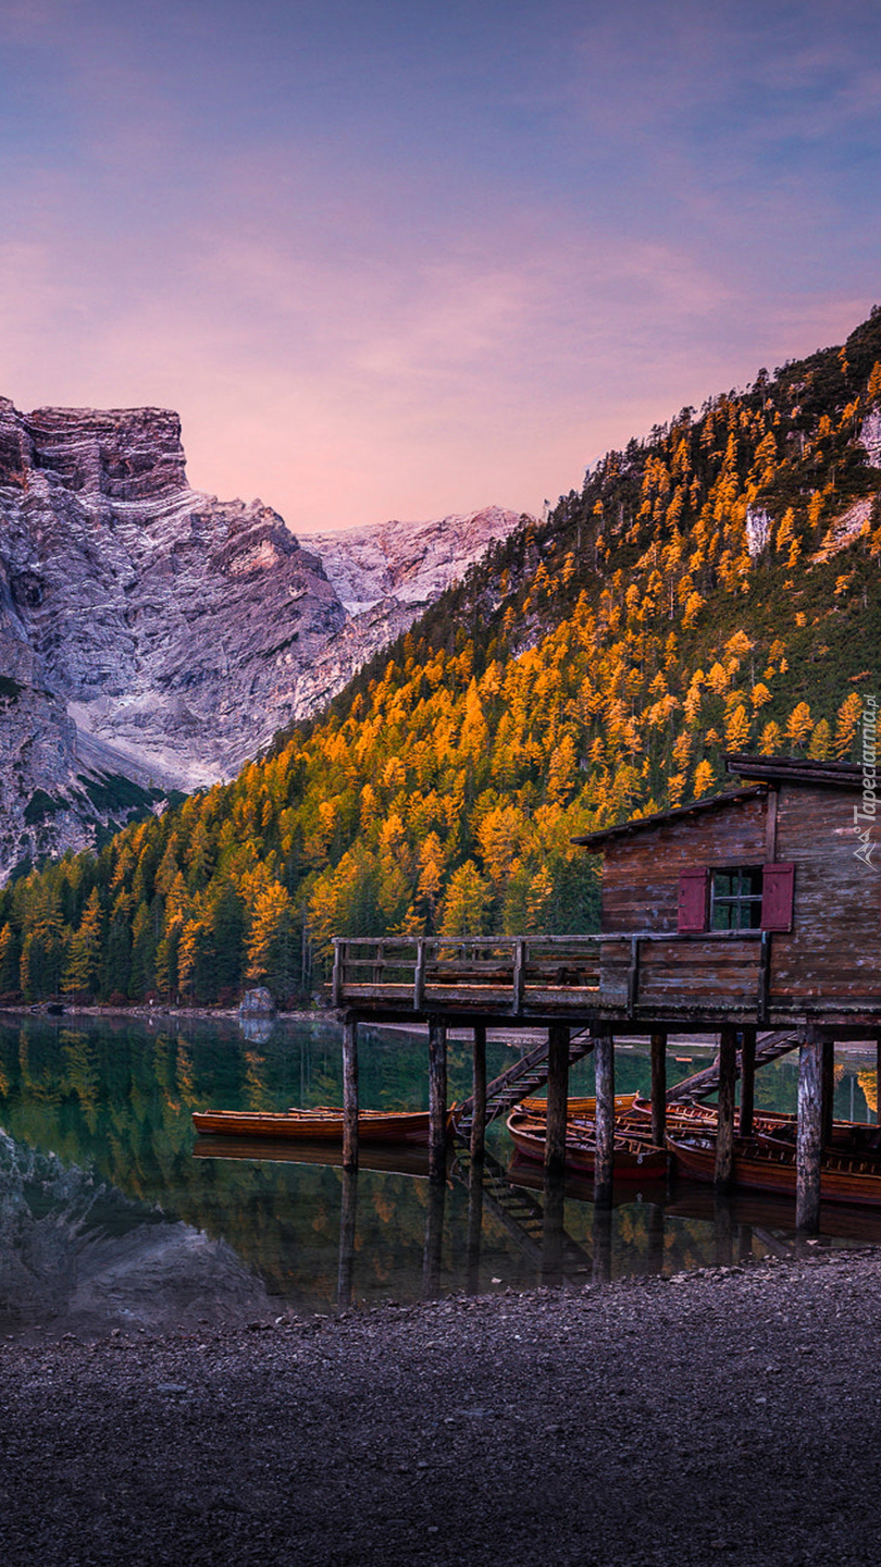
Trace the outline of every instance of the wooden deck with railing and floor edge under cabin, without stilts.
{"label": "wooden deck with railing and floor edge under cabin, without stilts", "polygon": [[[867,987],[868,990],[868,987]],[[332,1006],[376,1022],[567,1022],[696,1030],[821,1022],[881,1026],[881,990],[774,984],[771,931],[632,931],[517,937],[337,937]],[[854,1033],[856,1031],[856,1033]]]}

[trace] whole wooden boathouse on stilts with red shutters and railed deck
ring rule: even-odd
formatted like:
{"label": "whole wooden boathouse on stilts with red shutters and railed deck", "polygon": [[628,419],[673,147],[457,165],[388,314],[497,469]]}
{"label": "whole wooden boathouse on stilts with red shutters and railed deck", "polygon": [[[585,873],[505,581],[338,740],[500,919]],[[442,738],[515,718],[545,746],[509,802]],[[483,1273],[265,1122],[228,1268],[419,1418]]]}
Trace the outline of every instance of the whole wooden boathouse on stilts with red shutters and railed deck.
{"label": "whole wooden boathouse on stilts with red shutters and railed deck", "polygon": [[[594,1051],[600,1205],[611,1200],[616,1033],[651,1039],[660,1142],[677,1094],[665,1081],[666,1036],[713,1031],[720,1055],[704,1092],[718,1086],[716,1188],[731,1185],[735,1133],[751,1130],[756,1066],[798,1048],[796,1224],[817,1229],[834,1044],[873,1039],[881,1061],[873,793],[864,804],[864,771],[848,763],[732,754],[726,766],[732,785],[720,794],[574,840],[602,856],[599,932],[335,940],[350,1163],[361,1020],[428,1023],[436,1175],[445,1158],[447,1028],[473,1030],[475,1091],[459,1133],[470,1131],[475,1158],[486,1122],[547,1083],[547,1164],[561,1169],[569,1066]],[[486,1030],[500,1025],[547,1037],[488,1087]]]}

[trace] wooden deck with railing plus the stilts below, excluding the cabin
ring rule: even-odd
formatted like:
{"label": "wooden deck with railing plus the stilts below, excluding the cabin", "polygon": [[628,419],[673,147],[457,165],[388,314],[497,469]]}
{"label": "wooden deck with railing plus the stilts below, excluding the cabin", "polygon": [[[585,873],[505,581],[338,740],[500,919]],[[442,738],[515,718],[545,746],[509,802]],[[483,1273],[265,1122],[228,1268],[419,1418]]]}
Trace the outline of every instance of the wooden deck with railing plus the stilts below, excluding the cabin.
{"label": "wooden deck with railing plus the stilts below, excluding the cabin", "polygon": [[[873,1039],[881,1069],[881,990],[848,983],[774,984],[774,932],[633,931],[535,937],[337,937],[331,998],[343,1017],[346,1103],[345,1161],[357,1163],[357,1025],[426,1022],[431,1105],[430,1172],[447,1169],[447,1028],[470,1025],[475,1042],[473,1094],[459,1138],[470,1158],[484,1156],[484,1127],[499,1103],[514,1103],[547,1083],[549,1180],[561,1177],[566,1150],[569,1066],[594,1051],[597,1161],[594,1200],[613,1192],[615,1036],[644,1036],[652,1059],[652,1138],[666,1120],[666,1039],[676,1033],[718,1033],[720,1055],[694,1091],[718,1092],[716,1189],[732,1183],[734,1145],[751,1128],[756,1069],[784,1050],[799,1051],[799,1175],[796,1222],[818,1225],[818,1171],[831,1120],[834,1042]],[[868,989],[865,986],[865,989]],[[546,1028],[533,1047],[486,1084],[489,1026]],[[740,1078],[740,1106],[735,1084]],[[671,1091],[677,1094],[679,1091]]]}

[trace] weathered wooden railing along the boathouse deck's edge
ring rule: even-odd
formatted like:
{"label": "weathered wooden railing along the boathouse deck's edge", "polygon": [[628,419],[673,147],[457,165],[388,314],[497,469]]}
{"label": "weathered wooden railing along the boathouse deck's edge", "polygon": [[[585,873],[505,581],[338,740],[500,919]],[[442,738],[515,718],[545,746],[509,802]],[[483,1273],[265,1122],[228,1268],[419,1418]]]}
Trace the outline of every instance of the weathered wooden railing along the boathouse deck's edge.
{"label": "weathered wooden railing along the boathouse deck's edge", "polygon": [[420,1014],[481,1004],[513,1017],[567,1004],[625,1017],[735,1008],[762,1023],[770,956],[767,931],[337,937],[331,992],[335,1008],[390,1003]]}

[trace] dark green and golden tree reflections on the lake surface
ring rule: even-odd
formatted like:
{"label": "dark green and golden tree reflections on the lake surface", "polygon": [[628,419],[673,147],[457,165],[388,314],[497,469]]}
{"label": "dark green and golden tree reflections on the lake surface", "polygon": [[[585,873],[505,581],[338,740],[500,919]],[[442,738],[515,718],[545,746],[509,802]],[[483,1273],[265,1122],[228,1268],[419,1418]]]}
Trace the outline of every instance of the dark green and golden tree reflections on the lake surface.
{"label": "dark green and golden tree reflections on the lake surface", "polygon": [[[425,1040],[364,1030],[359,1055],[364,1105],[425,1108]],[[489,1042],[491,1075],[511,1059],[506,1045]],[[450,1044],[448,1066],[450,1094],[461,1098],[470,1087],[467,1042]],[[647,1070],[646,1042],[643,1053],[624,1055],[619,1062],[622,1091],[647,1086]],[[572,1092],[589,1087],[588,1066]],[[868,1117],[868,1087],[865,1062],[854,1061],[837,1083],[839,1114],[854,1100]],[[789,1108],[793,1097],[793,1064],[784,1059],[765,1069],[757,1102]],[[589,1202],[589,1186],[546,1186],[538,1166],[516,1171],[519,1185],[511,1186],[499,1164],[509,1161],[503,1128],[491,1128],[483,1171],[469,1167],[461,1155],[450,1163],[447,1183],[434,1188],[425,1155],[412,1149],[397,1163],[362,1150],[357,1178],[343,1174],[332,1150],[307,1156],[288,1145],[265,1158],[256,1156],[265,1155],[265,1147],[229,1139],[205,1147],[201,1139],[196,1152],[207,1156],[193,1156],[193,1108],[284,1109],[340,1098],[340,1034],[334,1025],[276,1023],[257,1042],[243,1037],[234,1022],[158,1026],[28,1017],[0,1023],[0,1125],[19,1150],[6,1160],[9,1169],[19,1156],[53,1155],[56,1172],[75,1172],[129,1205],[129,1230],[146,1233],[155,1222],[182,1225],[202,1243],[226,1244],[235,1268],[216,1269],[204,1288],[262,1301],[266,1310],[321,1312],[560,1280],[580,1287],[627,1272],[727,1265],[789,1246],[792,1219],[776,1200],[768,1205],[760,1197],[735,1196],[724,1211],[715,1211],[712,1192],[704,1189],[616,1191],[616,1207],[600,1214]],[[16,1233],[24,1233],[22,1203],[33,1210],[36,1199],[33,1191],[24,1194],[20,1182],[16,1186],[9,1169],[0,1172],[0,1280],[20,1280]],[[834,1218],[839,1233],[881,1239],[873,1214],[845,1219],[839,1211]],[[75,1229],[78,1219],[71,1222]],[[183,1252],[183,1268],[182,1258]],[[3,1288],[0,1282],[0,1296]],[[45,1282],[49,1296],[53,1288]],[[28,1307],[27,1291],[19,1294],[25,1316],[38,1310],[36,1296]],[[8,1316],[11,1308],[8,1301]],[[202,1315],[213,1310],[223,1312],[223,1302],[213,1301]]]}

